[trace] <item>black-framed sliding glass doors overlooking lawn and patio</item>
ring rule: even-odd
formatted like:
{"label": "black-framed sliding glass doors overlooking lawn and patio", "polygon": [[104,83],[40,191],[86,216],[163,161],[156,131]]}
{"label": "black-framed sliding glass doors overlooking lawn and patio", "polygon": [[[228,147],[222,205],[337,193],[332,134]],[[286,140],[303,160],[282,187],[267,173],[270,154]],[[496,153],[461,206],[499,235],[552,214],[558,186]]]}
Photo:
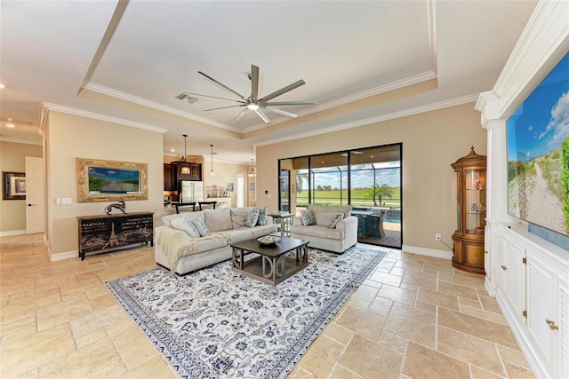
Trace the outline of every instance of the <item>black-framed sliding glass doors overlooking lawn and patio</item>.
{"label": "black-framed sliding glass doors overlooking lawn and patio", "polygon": [[300,215],[309,204],[351,204],[358,241],[401,249],[401,162],[401,144],[280,160],[279,207]]}

